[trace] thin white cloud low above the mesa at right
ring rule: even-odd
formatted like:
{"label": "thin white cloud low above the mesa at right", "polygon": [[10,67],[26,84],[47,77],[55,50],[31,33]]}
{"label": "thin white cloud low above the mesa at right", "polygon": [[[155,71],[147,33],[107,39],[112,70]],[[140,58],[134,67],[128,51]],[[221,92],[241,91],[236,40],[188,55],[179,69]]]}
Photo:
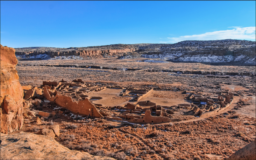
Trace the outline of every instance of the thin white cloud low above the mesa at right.
{"label": "thin white cloud low above the mesa at right", "polygon": [[[234,28],[231,30],[215,31],[215,32],[206,32],[201,35],[184,35],[180,37],[171,37],[170,41],[167,43],[177,43],[180,41],[186,40],[221,40],[221,39],[241,39],[241,40],[256,40],[256,27],[240,27],[233,26],[229,28]],[[160,42],[161,43],[161,42]]]}

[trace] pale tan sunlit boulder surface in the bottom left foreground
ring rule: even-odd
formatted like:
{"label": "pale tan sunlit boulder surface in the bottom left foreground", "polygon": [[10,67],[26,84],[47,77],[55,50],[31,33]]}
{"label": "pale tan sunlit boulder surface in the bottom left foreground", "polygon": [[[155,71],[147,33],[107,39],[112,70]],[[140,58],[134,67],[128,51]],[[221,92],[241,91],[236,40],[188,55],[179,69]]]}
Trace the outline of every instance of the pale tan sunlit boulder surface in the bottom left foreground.
{"label": "pale tan sunlit boulder surface in the bottom left foreground", "polygon": [[87,152],[70,150],[52,137],[20,132],[1,134],[1,160],[114,160],[93,156]]}

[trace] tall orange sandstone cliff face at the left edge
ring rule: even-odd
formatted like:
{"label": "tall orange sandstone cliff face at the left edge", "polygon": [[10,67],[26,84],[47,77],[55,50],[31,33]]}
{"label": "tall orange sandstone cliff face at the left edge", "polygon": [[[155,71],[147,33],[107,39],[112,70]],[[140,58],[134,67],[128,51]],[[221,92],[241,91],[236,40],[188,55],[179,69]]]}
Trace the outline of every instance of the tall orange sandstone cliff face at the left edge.
{"label": "tall orange sandstone cliff face at the left edge", "polygon": [[23,125],[23,89],[19,82],[15,49],[1,45],[0,131],[11,133]]}

